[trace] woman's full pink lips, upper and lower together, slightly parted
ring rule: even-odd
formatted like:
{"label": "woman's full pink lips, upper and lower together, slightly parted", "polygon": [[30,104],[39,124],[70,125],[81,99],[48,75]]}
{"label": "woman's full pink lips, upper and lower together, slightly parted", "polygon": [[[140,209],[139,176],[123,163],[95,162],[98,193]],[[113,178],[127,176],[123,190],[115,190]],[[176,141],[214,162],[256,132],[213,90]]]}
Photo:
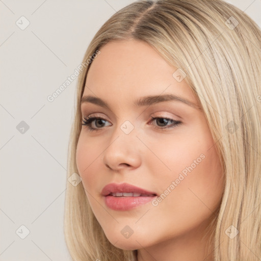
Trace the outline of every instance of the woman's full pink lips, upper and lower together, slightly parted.
{"label": "woman's full pink lips, upper and lower together, slightly parted", "polygon": [[[117,192],[119,193],[133,192],[133,193],[139,193],[148,196],[115,197],[111,195],[111,193],[117,193]],[[153,199],[155,199],[155,197],[157,197],[157,194],[155,192],[151,192],[127,183],[108,184],[102,189],[101,195],[105,198],[106,205],[110,207],[112,210],[116,210],[116,211],[131,210],[132,208],[135,208],[139,205],[146,204],[152,201]]]}

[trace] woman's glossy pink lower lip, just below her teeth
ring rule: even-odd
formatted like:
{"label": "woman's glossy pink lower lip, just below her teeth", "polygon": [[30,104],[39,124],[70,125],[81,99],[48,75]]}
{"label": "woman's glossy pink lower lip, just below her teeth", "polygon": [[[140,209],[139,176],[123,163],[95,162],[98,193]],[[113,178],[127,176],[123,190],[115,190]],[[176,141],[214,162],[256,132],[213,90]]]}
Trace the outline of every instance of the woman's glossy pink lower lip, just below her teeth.
{"label": "woman's glossy pink lower lip, just below her teeth", "polygon": [[108,195],[105,197],[105,203],[108,207],[112,208],[112,210],[120,210],[120,211],[127,211],[135,208],[139,205],[146,204],[156,196],[151,197],[114,197]]}

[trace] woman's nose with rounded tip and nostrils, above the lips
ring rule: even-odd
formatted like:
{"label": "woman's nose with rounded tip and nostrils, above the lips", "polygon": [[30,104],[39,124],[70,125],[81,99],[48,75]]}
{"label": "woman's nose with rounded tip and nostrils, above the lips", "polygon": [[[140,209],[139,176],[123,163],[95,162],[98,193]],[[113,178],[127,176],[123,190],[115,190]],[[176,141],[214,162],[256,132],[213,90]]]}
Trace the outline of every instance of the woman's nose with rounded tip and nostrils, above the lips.
{"label": "woman's nose with rounded tip and nostrils, above the lips", "polygon": [[120,127],[114,132],[103,153],[103,163],[111,170],[135,169],[141,165],[141,142],[135,129],[125,134]]}

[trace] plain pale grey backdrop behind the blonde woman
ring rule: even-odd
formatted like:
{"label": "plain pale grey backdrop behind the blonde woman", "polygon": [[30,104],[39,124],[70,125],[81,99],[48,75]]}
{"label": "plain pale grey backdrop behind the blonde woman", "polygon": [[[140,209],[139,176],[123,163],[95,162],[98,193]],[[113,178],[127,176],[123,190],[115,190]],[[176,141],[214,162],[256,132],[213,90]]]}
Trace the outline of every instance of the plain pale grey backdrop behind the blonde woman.
{"label": "plain pale grey backdrop behind the blonde woman", "polygon": [[[81,64],[101,25],[132,2],[0,0],[0,260],[70,260],[63,215],[77,79],[47,97]],[[261,27],[261,0],[228,2]]]}

